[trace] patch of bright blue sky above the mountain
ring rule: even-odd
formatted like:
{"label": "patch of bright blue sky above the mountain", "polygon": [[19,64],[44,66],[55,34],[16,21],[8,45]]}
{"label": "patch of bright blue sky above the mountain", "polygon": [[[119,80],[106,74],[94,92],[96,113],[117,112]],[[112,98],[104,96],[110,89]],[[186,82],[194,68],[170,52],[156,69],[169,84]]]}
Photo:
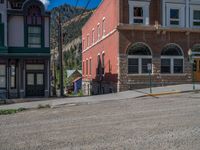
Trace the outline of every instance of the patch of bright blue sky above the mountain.
{"label": "patch of bright blue sky above the mountain", "polygon": [[[47,0],[41,0],[41,1],[46,1],[47,2]],[[51,10],[53,7],[62,5],[64,3],[67,3],[67,4],[70,4],[70,5],[74,6],[74,5],[76,5],[76,1],[77,0],[49,0],[48,1],[48,9]],[[85,7],[86,4],[87,4],[87,1],[88,0],[79,0],[78,6]],[[88,8],[89,9],[96,8],[101,1],[102,0],[91,0]]]}

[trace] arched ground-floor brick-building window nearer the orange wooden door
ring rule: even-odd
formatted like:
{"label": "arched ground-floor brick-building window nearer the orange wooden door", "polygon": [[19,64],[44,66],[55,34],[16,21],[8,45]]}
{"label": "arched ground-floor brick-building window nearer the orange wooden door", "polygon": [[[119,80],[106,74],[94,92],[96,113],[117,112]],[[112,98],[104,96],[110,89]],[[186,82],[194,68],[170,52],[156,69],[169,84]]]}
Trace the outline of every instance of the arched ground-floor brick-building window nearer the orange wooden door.
{"label": "arched ground-floor brick-building window nearer the orange wooden door", "polygon": [[176,44],[165,46],[161,52],[161,73],[183,73],[183,52]]}

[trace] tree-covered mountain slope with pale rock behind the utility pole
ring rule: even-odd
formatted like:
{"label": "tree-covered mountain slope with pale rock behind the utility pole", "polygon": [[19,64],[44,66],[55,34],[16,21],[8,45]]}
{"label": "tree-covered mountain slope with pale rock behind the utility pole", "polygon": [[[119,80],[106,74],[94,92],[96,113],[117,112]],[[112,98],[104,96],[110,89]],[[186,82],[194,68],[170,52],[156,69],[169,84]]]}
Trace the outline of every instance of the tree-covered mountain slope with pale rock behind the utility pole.
{"label": "tree-covered mountain slope with pale rock behind the utility pole", "polygon": [[[51,49],[58,56],[58,26],[56,18],[59,11],[62,14],[63,53],[67,69],[81,69],[82,37],[81,29],[92,14],[83,8],[75,8],[67,4],[51,11]],[[84,13],[83,13],[84,12]],[[56,57],[57,59],[58,57]]]}

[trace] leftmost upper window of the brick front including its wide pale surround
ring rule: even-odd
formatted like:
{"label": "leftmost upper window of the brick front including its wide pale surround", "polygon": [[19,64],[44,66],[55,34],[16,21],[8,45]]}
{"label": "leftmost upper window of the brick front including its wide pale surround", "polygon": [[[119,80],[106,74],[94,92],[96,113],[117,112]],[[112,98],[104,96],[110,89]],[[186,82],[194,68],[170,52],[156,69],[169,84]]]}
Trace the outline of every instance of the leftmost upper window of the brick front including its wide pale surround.
{"label": "leftmost upper window of the brick front including its wide pale surround", "polygon": [[149,1],[129,0],[129,23],[149,25]]}

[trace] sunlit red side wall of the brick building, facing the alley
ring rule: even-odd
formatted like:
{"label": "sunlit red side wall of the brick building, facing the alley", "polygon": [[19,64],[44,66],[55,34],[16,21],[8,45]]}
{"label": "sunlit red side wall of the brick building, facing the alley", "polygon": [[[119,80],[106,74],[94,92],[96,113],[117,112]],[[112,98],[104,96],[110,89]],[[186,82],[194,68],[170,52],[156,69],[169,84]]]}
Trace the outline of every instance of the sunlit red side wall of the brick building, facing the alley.
{"label": "sunlit red side wall of the brick building, facing the alley", "polygon": [[[116,27],[118,25],[118,0],[104,0],[102,4],[95,10],[89,21],[82,29],[82,38],[87,45],[87,35],[89,34],[90,46],[83,49],[82,60],[92,58],[92,76],[83,75],[83,80],[95,80],[97,69],[98,54],[105,53],[105,80],[117,82],[118,72],[118,32]],[[105,37],[102,38],[102,20],[105,18]],[[100,37],[101,40],[97,42],[97,25],[100,24]],[[92,45],[92,29],[95,30],[95,44]],[[96,43],[97,42],[97,43]],[[110,64],[110,65],[109,65]],[[86,65],[85,65],[86,66]],[[85,67],[86,69],[86,67]],[[84,69],[84,70],[85,70]],[[110,71],[110,72],[109,72]],[[85,71],[86,72],[86,71]],[[88,71],[90,72],[90,71]]]}

